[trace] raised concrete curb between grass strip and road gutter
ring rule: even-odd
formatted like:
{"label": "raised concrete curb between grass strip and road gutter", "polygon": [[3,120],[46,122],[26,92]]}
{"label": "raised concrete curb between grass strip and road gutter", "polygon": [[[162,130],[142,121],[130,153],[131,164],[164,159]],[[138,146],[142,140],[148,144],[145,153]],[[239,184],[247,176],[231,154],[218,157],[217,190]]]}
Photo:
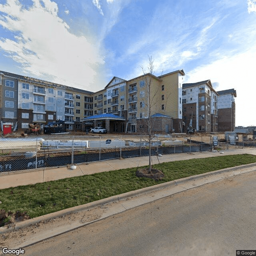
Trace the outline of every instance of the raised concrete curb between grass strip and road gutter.
{"label": "raised concrete curb between grass strip and road gutter", "polygon": [[157,184],[157,185],[154,185],[154,186],[141,188],[141,189],[138,189],[138,190],[133,190],[133,191],[126,192],[126,193],[123,193],[123,194],[119,194],[119,195],[116,195],[116,196],[111,196],[111,197],[108,197],[108,198],[103,198],[101,200],[90,202],[88,204],[82,204],[82,205],[79,205],[79,206],[74,206],[72,208],[67,208],[67,209],[64,209],[64,210],[60,210],[58,212],[52,212],[52,213],[49,213],[49,214],[46,214],[46,215],[38,216],[38,217],[30,219],[30,220],[24,220],[23,222],[20,222],[20,223],[18,222],[17,224],[15,224],[14,226],[11,226],[11,227],[0,227],[0,234],[4,234],[6,232],[18,230],[20,228],[24,228],[24,227],[36,224],[36,223],[41,222],[41,221],[47,221],[47,220],[58,218],[58,217],[61,217],[61,216],[64,216],[64,215],[77,213],[77,212],[82,212],[82,211],[85,211],[85,210],[90,210],[92,208],[102,206],[104,204],[119,202],[119,201],[122,201],[122,200],[126,200],[127,198],[132,198],[132,197],[140,196],[142,194],[147,194],[147,193],[150,193],[150,192],[161,190],[161,189],[167,188],[167,187],[172,186],[172,185],[176,186],[178,184],[182,184],[182,183],[185,183],[185,182],[188,182],[188,181],[191,181],[191,180],[198,180],[200,178],[205,178],[205,177],[212,176],[212,175],[215,175],[215,174],[221,174],[221,173],[224,173],[224,172],[230,172],[230,171],[240,170],[240,169],[244,169],[244,168],[251,168],[251,167],[254,167],[254,166],[256,166],[256,163],[245,164],[245,165],[241,165],[241,166],[234,166],[234,167],[225,168],[225,169],[221,169],[221,170],[216,170],[216,171],[212,171],[212,172],[206,172],[206,173],[203,173],[203,174],[197,174],[197,175],[189,176],[189,177],[186,177],[186,178],[181,178],[181,179],[178,179],[178,180],[172,180],[172,181],[169,181],[169,182],[164,182],[164,183]]}

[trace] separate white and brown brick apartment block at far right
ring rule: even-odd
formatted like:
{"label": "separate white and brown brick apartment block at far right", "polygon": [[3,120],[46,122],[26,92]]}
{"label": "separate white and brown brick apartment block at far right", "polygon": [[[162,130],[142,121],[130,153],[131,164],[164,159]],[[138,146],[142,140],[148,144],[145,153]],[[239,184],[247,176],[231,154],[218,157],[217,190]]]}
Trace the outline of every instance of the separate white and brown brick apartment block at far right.
{"label": "separate white and brown brick apartment block at far right", "polygon": [[192,121],[199,132],[233,131],[235,124],[234,89],[216,92],[210,80],[182,86],[183,131]]}

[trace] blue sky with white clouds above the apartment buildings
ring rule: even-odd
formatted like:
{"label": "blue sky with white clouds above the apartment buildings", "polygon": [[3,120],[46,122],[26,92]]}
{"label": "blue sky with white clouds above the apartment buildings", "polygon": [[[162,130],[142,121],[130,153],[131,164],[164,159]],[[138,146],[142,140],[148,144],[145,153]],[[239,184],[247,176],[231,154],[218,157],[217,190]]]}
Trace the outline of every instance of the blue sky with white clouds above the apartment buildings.
{"label": "blue sky with white clouds above the apartment buildings", "polygon": [[234,88],[236,126],[256,126],[256,0],[0,0],[0,70],[95,92],[148,56]]}

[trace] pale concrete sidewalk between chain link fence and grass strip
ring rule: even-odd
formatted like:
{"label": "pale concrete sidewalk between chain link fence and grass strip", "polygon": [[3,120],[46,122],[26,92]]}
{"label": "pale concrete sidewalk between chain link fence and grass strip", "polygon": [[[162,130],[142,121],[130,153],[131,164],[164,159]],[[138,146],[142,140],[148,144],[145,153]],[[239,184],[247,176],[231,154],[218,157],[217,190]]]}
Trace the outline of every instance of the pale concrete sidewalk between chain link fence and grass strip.
{"label": "pale concrete sidewalk between chain link fence and grass strip", "polygon": [[[223,152],[223,153],[222,153]],[[178,160],[188,160],[193,158],[206,158],[214,156],[225,156],[232,154],[254,154],[256,148],[237,148],[230,150],[222,150],[220,152],[193,152],[166,154],[160,157],[152,156],[152,164],[163,162],[171,162]],[[159,162],[158,162],[159,161]],[[36,184],[38,182],[46,182],[50,180],[59,180],[74,176],[82,176],[97,172],[108,172],[111,170],[120,170],[124,168],[132,168],[137,166],[148,165],[148,156],[123,158],[114,160],[105,160],[102,162],[90,162],[88,164],[77,164],[75,170],[64,167],[42,168],[18,172],[4,172],[0,174],[0,189],[16,187],[20,185]]]}

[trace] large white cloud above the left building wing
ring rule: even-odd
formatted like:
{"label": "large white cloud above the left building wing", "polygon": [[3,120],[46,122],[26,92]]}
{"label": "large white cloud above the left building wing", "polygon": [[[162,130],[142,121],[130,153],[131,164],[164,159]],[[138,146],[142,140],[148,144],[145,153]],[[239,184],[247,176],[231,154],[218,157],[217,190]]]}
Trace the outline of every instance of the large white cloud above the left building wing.
{"label": "large white cloud above the left building wing", "polygon": [[22,73],[90,90],[104,64],[99,46],[85,36],[71,34],[68,24],[58,17],[55,2],[33,0],[25,9],[20,2],[7,0],[0,10],[0,26],[14,35],[1,38],[0,48],[21,64]]}

